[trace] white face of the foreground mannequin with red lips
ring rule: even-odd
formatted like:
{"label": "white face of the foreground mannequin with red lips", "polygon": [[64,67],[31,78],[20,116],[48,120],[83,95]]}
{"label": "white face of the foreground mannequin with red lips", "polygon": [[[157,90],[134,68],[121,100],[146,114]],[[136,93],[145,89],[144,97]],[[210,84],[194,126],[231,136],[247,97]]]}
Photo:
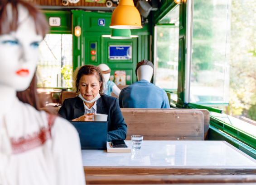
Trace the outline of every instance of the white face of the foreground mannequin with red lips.
{"label": "white face of the foreground mannequin with red lips", "polygon": [[34,76],[39,60],[39,43],[43,37],[36,33],[34,19],[27,9],[18,7],[18,29],[0,35],[0,84],[25,90]]}

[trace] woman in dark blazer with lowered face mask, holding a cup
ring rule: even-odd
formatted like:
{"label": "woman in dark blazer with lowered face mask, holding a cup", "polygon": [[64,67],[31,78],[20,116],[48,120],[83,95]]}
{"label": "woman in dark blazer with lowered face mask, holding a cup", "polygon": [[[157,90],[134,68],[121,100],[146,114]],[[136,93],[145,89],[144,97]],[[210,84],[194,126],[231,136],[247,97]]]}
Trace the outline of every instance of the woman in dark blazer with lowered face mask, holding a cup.
{"label": "woman in dark blazer with lowered face mask, holding a cup", "polygon": [[78,97],[65,99],[58,116],[72,121],[93,121],[93,114],[107,114],[107,141],[126,139],[127,125],[116,97],[103,94],[101,69],[84,65],[74,72],[73,87]]}

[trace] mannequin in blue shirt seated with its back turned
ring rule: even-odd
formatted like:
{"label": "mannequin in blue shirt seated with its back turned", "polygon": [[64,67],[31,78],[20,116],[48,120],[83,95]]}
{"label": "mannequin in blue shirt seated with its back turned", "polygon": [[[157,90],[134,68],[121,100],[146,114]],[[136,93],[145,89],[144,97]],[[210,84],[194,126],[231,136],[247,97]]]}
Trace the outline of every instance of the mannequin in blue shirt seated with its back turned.
{"label": "mannequin in blue shirt seated with its back turned", "polygon": [[137,64],[135,73],[138,82],[121,90],[119,105],[121,108],[170,108],[166,92],[150,83],[154,65],[148,60]]}

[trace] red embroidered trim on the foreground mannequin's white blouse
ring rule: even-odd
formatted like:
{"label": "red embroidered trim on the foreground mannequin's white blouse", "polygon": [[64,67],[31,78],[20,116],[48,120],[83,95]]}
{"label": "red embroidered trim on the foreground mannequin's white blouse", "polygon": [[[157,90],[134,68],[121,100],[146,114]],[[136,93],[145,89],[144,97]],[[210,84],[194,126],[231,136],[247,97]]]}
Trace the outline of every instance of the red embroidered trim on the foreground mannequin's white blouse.
{"label": "red embroidered trim on the foreground mannequin's white blouse", "polygon": [[48,127],[40,128],[39,132],[34,132],[31,135],[28,134],[25,137],[20,137],[18,139],[11,138],[12,153],[24,153],[28,150],[42,146],[46,140],[51,139],[51,127],[53,126],[56,117],[57,116],[48,114]]}

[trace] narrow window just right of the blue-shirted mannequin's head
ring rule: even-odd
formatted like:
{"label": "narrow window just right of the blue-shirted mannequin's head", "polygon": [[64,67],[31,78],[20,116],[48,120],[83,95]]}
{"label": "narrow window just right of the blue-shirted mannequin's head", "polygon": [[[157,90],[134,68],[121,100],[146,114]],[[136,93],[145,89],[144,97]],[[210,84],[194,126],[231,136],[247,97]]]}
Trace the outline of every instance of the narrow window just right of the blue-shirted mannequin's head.
{"label": "narrow window just right of the blue-shirted mannequin's head", "polygon": [[179,6],[156,27],[155,85],[171,92],[177,101],[179,55]]}

